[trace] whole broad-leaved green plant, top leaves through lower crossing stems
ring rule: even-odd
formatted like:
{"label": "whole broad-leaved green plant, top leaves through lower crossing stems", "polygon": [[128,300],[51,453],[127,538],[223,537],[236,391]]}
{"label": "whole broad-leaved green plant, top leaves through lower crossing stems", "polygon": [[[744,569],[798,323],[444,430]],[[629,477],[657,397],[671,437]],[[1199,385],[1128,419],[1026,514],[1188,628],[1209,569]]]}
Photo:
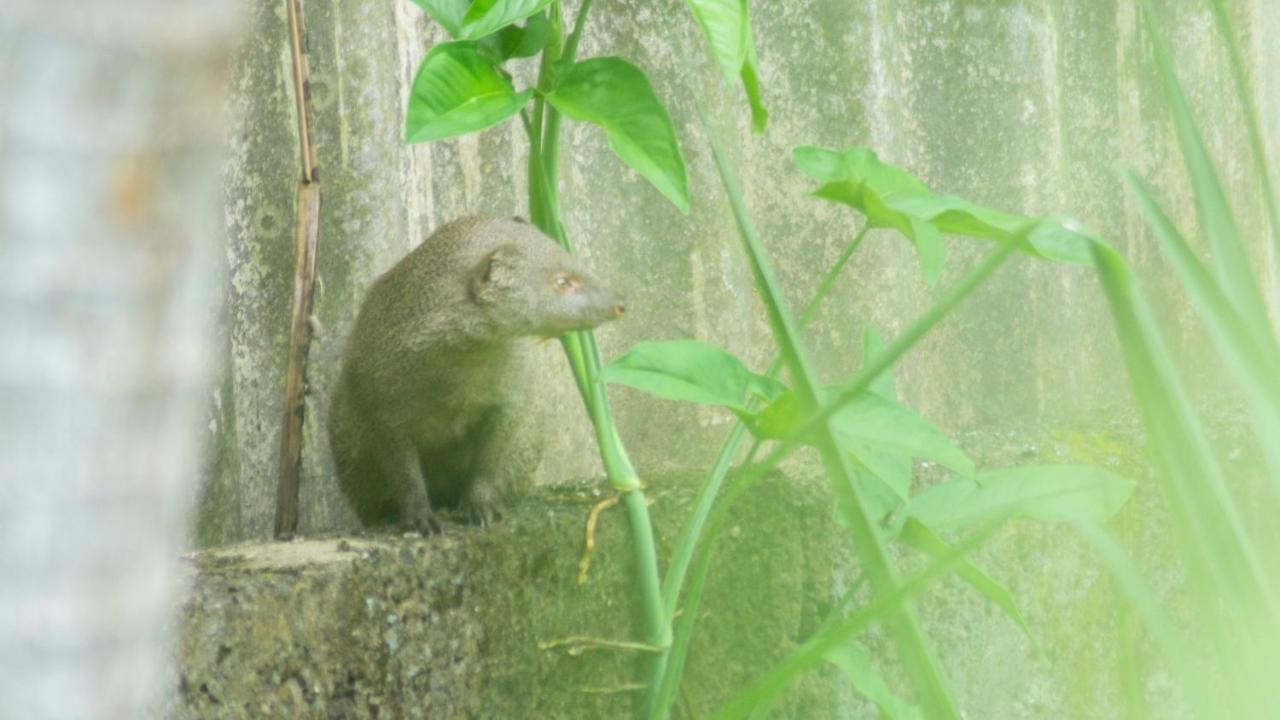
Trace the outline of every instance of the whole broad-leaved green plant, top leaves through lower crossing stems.
{"label": "whole broad-leaved green plant, top leaves through lower crossing stems", "polygon": [[[562,117],[599,126],[625,163],[677,208],[687,209],[685,167],[675,131],[644,73],[620,58],[576,58],[590,0],[579,6],[568,35],[557,1],[415,1],[454,40],[436,45],[422,60],[406,117],[407,141],[475,132],[520,114],[530,141],[531,219],[566,249],[570,242],[561,220],[557,190]],[[760,101],[746,3],[690,0],[689,6],[726,79],[741,79],[753,124],[763,129],[767,113]],[[521,20],[522,26],[516,24]],[[540,55],[536,83],[517,90],[504,63],[535,55]],[[867,223],[819,283],[797,322],[781,302],[778,284],[753,229],[735,173],[714,142],[713,154],[737,220],[744,254],[781,348],[772,368],[756,374],[719,348],[684,341],[643,343],[605,369],[590,333],[562,340],[591,415],[609,480],[622,495],[631,520],[640,606],[646,642],[654,650],[646,678],[645,715],[666,717],[671,711],[712,548],[733,500],[787,454],[809,446],[823,459],[840,516],[859,552],[873,597],[869,605],[847,615],[844,606],[838,607],[796,653],[744,689],[721,715],[740,716],[768,707],[790,679],[818,662],[841,667],[886,714],[918,712],[919,708],[887,691],[888,684],[874,670],[867,651],[850,643],[859,629],[879,620],[891,628],[923,711],[931,717],[956,716],[955,703],[910,598],[931,578],[954,571],[1025,632],[1027,623],[1010,593],[966,559],[969,551],[1002,521],[1018,515],[1069,519],[1092,527],[1124,502],[1129,483],[1088,468],[978,471],[948,438],[897,401],[890,369],[1015,251],[1050,260],[1089,261],[1089,238],[1052,219],[1024,218],[934,195],[908,173],[881,163],[869,150],[831,152],[800,147],[796,163],[820,183],[815,195],[854,208]],[[870,228],[892,228],[913,242],[931,282],[943,266],[943,233],[991,240],[997,249],[890,345],[881,347],[877,336],[868,331],[861,370],[841,386],[823,387],[800,343],[800,327],[812,318]],[[783,368],[791,378],[790,387],[777,379]],[[662,582],[644,495],[613,425],[604,380],[668,398],[719,405],[742,420],[699,493]],[[731,461],[748,434],[755,437],[749,459],[755,457],[765,441],[777,443],[759,462],[742,471],[717,501]],[[956,477],[911,496],[910,473],[915,459],[934,460]],[[955,547],[934,532],[975,524],[979,529]],[[899,541],[932,556],[933,562],[922,573],[900,579],[887,552],[887,544]],[[684,615],[673,633],[681,600]]]}

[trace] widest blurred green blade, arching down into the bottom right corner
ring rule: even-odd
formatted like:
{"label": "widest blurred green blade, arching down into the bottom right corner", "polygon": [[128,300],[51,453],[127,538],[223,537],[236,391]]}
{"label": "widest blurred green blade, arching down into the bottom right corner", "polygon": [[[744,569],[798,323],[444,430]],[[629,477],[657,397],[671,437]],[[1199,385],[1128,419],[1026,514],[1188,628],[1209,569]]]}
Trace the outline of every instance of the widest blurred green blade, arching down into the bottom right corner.
{"label": "widest blurred green blade, arching down into the bottom right corner", "polygon": [[[1147,430],[1147,446],[1165,484],[1170,512],[1179,519],[1172,534],[1189,579],[1187,587],[1203,618],[1199,632],[1212,638],[1207,643],[1211,656],[1203,660],[1236,680],[1231,689],[1215,692],[1208,703],[1228,707],[1225,716],[1274,717],[1280,711],[1280,700],[1271,692],[1280,647],[1280,611],[1272,594],[1274,574],[1268,573],[1274,552],[1256,542],[1245,528],[1240,509],[1245,498],[1236,498],[1233,491],[1239,486],[1229,483],[1217,461],[1204,421],[1194,410],[1133,272],[1111,247],[1098,242],[1094,252],[1098,281],[1111,307],[1129,383]],[[1262,427],[1253,429],[1258,432]],[[1256,503],[1256,493],[1251,495],[1254,497],[1247,501]],[[1260,511],[1266,510],[1249,509],[1251,514]],[[1082,532],[1089,532],[1087,524],[1080,525]],[[1098,537],[1092,539],[1098,544]],[[1108,560],[1115,561],[1123,553],[1111,555]],[[1117,577],[1126,591],[1133,589],[1134,575]],[[1143,607],[1133,596],[1130,601],[1148,616],[1148,628],[1156,632],[1162,623],[1149,620],[1158,606]],[[1187,675],[1194,676],[1202,659],[1192,662],[1185,653],[1185,650],[1166,650],[1166,657],[1185,662],[1190,670]],[[1245,710],[1251,706],[1266,711]]]}

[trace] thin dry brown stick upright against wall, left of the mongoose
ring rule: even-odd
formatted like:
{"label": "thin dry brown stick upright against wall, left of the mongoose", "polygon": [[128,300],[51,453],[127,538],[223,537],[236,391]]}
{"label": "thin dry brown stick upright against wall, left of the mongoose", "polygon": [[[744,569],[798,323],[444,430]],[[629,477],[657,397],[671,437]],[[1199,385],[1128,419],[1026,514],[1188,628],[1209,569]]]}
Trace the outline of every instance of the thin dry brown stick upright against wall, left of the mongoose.
{"label": "thin dry brown stick upright against wall, left of the mongoose", "polygon": [[315,295],[316,246],[320,236],[320,169],[312,132],[311,87],[303,49],[301,0],[285,0],[289,13],[289,54],[293,58],[293,97],[298,117],[297,217],[293,234],[293,306],[289,364],[284,377],[284,423],[280,438],[280,477],[275,488],[275,537],[298,528],[298,486],[302,468],[302,420],[306,404],[307,354],[311,350],[311,305]]}

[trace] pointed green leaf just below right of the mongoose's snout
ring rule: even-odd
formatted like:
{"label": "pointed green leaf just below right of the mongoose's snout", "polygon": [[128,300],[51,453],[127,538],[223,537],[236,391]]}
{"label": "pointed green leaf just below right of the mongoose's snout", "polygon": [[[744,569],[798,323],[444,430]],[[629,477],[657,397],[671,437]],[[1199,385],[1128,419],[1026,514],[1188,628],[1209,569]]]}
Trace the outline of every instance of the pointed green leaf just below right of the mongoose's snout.
{"label": "pointed green leaf just below right of the mongoose's snout", "polygon": [[605,365],[602,377],[667,400],[719,405],[741,414],[749,414],[751,396],[772,398],[786,391],[727,351],[696,340],[636,343]]}

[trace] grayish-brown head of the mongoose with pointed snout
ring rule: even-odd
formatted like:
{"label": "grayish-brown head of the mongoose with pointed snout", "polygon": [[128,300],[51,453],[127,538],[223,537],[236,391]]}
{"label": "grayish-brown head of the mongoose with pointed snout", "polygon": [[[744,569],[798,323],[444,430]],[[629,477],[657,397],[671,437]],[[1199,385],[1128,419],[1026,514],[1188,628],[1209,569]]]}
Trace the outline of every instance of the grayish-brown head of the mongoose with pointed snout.
{"label": "grayish-brown head of the mongoose with pointed snout", "polygon": [[549,237],[512,223],[509,242],[490,250],[471,277],[471,295],[507,334],[553,337],[622,316],[622,297]]}

